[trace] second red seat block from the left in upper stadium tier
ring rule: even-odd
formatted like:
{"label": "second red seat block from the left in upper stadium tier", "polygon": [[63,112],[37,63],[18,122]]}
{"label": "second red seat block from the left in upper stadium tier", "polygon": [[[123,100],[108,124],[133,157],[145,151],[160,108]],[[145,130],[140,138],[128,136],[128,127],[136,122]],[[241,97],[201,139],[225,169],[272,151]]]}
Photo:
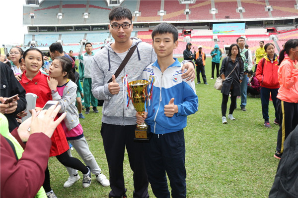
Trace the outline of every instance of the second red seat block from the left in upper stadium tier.
{"label": "second red seat block from the left in upper stadium tier", "polygon": [[166,15],[163,16],[163,21],[186,20],[185,4],[180,4],[178,0],[164,0],[164,10],[166,10]]}

